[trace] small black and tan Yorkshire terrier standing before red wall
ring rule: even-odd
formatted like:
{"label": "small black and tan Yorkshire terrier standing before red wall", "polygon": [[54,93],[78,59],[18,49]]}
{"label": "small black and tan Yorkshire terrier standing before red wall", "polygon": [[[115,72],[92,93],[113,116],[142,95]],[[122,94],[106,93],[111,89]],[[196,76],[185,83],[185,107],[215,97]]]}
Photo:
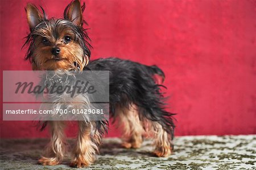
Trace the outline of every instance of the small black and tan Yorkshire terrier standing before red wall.
{"label": "small black and tan Yorkshire terrier standing before red wall", "polygon": [[[156,156],[172,153],[174,122],[171,113],[164,110],[164,98],[154,74],[164,80],[164,73],[156,66],[146,66],[116,58],[91,61],[90,44],[82,13],[85,3],[72,1],[64,10],[64,19],[47,19],[43,8],[31,3],[26,13],[30,34],[25,44],[29,45],[25,59],[30,60],[34,71],[109,71],[110,117],[118,119],[126,134],[123,147],[139,148],[143,136],[153,135]],[[24,44],[24,45],[25,45]],[[79,122],[79,134],[73,150],[71,167],[85,167],[93,163],[108,128],[108,122]],[[39,159],[43,165],[61,163],[65,155],[64,121],[48,121],[51,142],[46,156]]]}

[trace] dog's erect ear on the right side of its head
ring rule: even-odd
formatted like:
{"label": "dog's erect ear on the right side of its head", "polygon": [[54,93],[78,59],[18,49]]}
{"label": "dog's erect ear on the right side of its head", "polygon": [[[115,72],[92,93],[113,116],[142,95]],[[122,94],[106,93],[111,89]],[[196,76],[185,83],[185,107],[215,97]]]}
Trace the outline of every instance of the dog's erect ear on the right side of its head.
{"label": "dog's erect ear on the right side of its head", "polygon": [[80,4],[79,0],[71,2],[64,10],[64,19],[71,20],[77,26],[82,26],[82,11],[85,5]]}

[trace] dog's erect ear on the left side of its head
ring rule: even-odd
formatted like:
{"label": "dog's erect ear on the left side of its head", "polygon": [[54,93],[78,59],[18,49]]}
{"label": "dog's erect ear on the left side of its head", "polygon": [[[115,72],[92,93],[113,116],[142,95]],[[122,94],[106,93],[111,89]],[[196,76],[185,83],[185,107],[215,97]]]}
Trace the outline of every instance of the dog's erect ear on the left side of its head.
{"label": "dog's erect ear on the left side of its head", "polygon": [[32,28],[34,28],[45,18],[44,15],[38,10],[38,8],[32,3],[28,3],[25,10],[27,12],[27,22],[28,26],[30,26],[30,30],[32,30]]}

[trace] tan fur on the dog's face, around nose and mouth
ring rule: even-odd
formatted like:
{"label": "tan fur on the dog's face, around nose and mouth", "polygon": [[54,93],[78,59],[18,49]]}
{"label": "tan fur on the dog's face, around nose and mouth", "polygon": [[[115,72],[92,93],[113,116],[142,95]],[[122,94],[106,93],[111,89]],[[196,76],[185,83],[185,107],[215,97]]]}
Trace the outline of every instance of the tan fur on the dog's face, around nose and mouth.
{"label": "tan fur on the dog's face, around nose and mouth", "polygon": [[[69,36],[71,42],[65,43],[64,38]],[[47,39],[48,43],[43,40]],[[51,36],[51,32],[46,30],[46,36],[38,36],[35,38],[34,50],[34,70],[71,70],[78,63],[80,67],[85,65],[84,51],[77,42],[74,42],[75,35],[68,30],[60,30],[59,38],[55,39]],[[55,56],[52,54],[52,49],[58,47],[60,53]]]}

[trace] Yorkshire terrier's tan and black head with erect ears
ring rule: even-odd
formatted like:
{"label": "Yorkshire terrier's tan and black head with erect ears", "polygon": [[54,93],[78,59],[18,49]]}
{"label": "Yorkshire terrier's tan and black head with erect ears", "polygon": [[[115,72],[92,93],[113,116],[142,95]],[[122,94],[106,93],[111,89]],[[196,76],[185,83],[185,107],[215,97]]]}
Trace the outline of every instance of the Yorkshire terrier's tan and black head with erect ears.
{"label": "Yorkshire terrier's tan and black head with erect ears", "polygon": [[90,57],[89,38],[82,27],[85,3],[72,1],[64,10],[64,19],[47,19],[41,9],[42,13],[31,3],[26,6],[30,34],[25,59],[31,61],[33,70],[82,70]]}

